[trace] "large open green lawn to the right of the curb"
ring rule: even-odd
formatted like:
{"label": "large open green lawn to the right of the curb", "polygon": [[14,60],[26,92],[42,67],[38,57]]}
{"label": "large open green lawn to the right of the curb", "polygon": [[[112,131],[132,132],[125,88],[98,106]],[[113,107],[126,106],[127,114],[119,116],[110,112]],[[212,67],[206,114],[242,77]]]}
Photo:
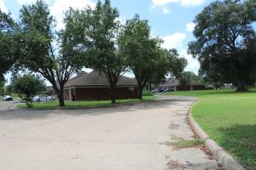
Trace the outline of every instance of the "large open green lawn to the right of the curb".
{"label": "large open green lawn to the right of the curb", "polygon": [[[199,98],[192,116],[220,146],[247,169],[256,169],[256,91],[171,92]],[[167,95],[168,95],[167,94]]]}

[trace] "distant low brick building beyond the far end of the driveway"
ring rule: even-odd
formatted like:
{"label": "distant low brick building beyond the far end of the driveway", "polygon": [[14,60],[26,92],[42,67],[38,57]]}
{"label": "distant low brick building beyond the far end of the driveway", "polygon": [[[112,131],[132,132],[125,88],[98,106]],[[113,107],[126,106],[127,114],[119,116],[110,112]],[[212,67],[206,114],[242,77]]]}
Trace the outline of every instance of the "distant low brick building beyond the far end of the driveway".
{"label": "distant low brick building beyond the far end of the driveway", "polygon": [[159,88],[168,88],[174,91],[183,91],[183,90],[204,90],[206,85],[203,82],[198,82],[191,80],[189,86],[182,86],[177,79],[170,79],[164,84],[160,84]]}

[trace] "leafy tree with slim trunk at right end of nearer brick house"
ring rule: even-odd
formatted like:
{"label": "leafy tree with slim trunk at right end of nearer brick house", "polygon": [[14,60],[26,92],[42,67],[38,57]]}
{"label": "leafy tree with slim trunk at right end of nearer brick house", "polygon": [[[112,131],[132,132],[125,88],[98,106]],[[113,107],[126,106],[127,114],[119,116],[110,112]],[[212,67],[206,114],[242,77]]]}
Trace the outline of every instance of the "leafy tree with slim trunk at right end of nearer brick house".
{"label": "leafy tree with slim trunk at right end of nearer brick house", "polygon": [[140,20],[135,15],[132,20],[127,20],[119,36],[119,49],[127,58],[131,71],[138,84],[137,98],[142,99],[143,88],[153,75],[157,57],[160,56],[159,38],[150,37],[148,20]]}

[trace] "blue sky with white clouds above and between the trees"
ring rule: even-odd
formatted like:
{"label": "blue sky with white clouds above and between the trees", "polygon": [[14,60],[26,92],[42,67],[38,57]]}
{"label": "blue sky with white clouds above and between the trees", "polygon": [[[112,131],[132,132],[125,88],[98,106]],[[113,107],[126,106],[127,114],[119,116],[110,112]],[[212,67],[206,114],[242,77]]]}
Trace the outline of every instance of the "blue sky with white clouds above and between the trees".
{"label": "blue sky with white clouds above and between the trees", "polygon": [[[57,20],[57,27],[63,28],[63,11],[69,7],[94,7],[96,0],[45,0],[49,4],[51,14]],[[0,8],[10,12],[15,19],[19,18],[22,5],[31,4],[36,0],[0,0]],[[185,71],[199,70],[199,63],[187,54],[188,42],[194,39],[193,20],[196,14],[212,0],[112,0],[112,6],[119,9],[119,20],[133,18],[139,14],[143,20],[148,20],[152,37],[161,37],[165,41],[163,48],[177,48],[179,54],[188,60]]]}

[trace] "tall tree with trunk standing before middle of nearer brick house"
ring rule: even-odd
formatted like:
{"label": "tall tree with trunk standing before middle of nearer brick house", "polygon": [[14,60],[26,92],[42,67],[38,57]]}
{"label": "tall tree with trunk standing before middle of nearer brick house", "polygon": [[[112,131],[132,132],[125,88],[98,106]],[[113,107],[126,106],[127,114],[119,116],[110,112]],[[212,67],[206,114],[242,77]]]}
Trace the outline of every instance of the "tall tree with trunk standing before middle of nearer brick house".
{"label": "tall tree with trunk standing before middle of nearer brick house", "polygon": [[[110,1],[100,1],[96,8],[73,10],[67,13],[67,28],[73,39],[78,40],[77,52],[84,55],[84,64],[102,72],[110,85],[110,97],[115,103],[115,89],[127,65],[116,41],[119,34],[119,12],[112,8]],[[76,46],[74,46],[76,47]]]}

